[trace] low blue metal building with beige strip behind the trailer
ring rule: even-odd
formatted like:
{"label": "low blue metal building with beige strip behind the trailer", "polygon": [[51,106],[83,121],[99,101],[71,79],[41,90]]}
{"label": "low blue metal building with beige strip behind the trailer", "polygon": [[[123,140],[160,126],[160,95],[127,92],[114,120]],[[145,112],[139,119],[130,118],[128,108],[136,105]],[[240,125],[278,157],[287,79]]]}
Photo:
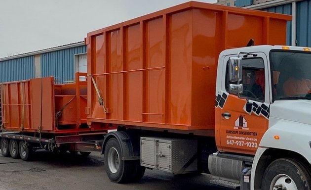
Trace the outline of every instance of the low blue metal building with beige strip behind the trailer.
{"label": "low blue metal building with beige strip behind the trailer", "polygon": [[84,42],[0,58],[0,83],[54,76],[56,83],[86,72]]}

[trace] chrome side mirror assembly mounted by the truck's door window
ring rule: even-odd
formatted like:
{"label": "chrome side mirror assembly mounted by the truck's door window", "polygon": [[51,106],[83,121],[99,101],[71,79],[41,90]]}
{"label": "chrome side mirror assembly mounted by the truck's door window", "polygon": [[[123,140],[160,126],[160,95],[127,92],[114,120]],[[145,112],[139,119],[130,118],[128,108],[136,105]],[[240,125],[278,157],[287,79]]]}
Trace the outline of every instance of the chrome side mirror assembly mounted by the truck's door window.
{"label": "chrome side mirror assembly mounted by the truck's door window", "polygon": [[229,81],[241,82],[242,81],[242,57],[230,57],[229,58]]}

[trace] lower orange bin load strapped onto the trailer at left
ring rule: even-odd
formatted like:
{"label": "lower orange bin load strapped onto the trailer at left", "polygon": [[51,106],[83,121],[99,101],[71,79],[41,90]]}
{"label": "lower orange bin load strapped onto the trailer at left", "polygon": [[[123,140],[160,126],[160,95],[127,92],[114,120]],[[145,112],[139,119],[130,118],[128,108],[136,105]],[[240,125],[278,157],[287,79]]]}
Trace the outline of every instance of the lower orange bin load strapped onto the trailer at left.
{"label": "lower orange bin load strapped onto the trailer at left", "polygon": [[77,133],[86,125],[86,82],[54,84],[53,77],[0,84],[2,127],[10,131]]}

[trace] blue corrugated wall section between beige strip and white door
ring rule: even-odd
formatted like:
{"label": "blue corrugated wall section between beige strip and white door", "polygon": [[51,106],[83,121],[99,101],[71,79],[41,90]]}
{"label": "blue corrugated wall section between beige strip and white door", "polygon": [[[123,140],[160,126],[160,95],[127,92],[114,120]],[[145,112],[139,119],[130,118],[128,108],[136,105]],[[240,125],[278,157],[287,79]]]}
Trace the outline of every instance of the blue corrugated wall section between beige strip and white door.
{"label": "blue corrugated wall section between beige strip and white door", "polygon": [[85,53],[86,46],[73,47],[43,53],[41,55],[41,76],[54,76],[57,83],[75,78],[75,54]]}

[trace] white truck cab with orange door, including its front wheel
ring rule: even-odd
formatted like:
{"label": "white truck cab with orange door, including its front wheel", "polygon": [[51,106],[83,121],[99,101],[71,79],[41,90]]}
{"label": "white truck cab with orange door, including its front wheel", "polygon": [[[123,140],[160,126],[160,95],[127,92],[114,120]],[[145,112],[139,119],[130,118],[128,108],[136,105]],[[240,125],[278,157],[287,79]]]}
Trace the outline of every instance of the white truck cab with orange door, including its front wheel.
{"label": "white truck cab with orange door, including its front wheel", "polygon": [[217,148],[254,154],[252,190],[310,188],[310,48],[227,49],[217,73]]}

